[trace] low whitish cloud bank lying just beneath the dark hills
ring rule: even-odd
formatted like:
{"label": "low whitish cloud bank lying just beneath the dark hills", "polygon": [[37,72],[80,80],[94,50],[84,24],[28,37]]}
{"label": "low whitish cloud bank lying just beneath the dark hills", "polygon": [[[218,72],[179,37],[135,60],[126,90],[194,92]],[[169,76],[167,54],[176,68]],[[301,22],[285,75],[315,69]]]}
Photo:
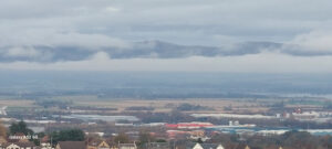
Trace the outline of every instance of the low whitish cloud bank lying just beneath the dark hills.
{"label": "low whitish cloud bank lying just beneath the dark hills", "polygon": [[110,58],[97,53],[89,60],[55,63],[0,63],[1,70],[28,71],[134,71],[134,72],[234,72],[234,73],[332,73],[332,56],[290,56],[260,53],[242,56],[186,58]]}

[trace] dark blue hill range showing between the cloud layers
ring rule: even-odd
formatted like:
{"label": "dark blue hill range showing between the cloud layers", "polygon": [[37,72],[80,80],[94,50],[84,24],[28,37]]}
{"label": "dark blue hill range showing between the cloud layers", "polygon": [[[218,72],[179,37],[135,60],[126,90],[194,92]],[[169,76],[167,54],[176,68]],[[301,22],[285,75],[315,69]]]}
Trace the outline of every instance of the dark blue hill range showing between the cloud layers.
{"label": "dark blue hill range showing between the cloud layers", "polygon": [[84,49],[80,46],[20,46],[0,47],[0,62],[32,61],[81,61],[97,52],[105,52],[112,58],[178,58],[189,56],[229,56],[256,54],[262,51],[274,51],[282,47],[273,42],[243,42],[229,46],[179,45],[163,41],[143,41],[128,43],[125,47]]}

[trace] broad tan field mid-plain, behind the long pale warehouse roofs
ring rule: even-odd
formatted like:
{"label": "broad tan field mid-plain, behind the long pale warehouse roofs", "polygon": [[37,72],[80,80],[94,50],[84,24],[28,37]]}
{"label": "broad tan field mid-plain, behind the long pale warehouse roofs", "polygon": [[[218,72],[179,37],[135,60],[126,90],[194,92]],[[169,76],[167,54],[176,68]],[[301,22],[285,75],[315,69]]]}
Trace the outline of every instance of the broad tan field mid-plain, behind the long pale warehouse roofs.
{"label": "broad tan field mid-plain, behind the long pale warehouse roofs", "polygon": [[[112,99],[112,100],[80,100],[74,102],[76,106],[95,106],[117,108],[118,111],[124,111],[129,107],[153,107],[154,111],[170,111],[174,107],[181,104],[190,104],[201,106],[209,109],[199,110],[199,113],[219,113],[225,111],[225,107],[231,107],[237,110],[261,111],[267,108],[260,106],[261,102],[252,102],[247,99]],[[198,113],[196,110],[195,113]]]}

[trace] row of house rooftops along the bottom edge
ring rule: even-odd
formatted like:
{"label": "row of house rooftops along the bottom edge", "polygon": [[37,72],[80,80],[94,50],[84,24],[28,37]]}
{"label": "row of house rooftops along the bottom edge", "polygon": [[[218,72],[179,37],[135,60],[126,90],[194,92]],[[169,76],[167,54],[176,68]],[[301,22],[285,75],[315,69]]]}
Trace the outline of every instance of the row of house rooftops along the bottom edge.
{"label": "row of house rooftops along the bottom edge", "polygon": [[[8,142],[4,138],[0,137],[0,149],[137,149],[135,142],[132,143],[114,143],[103,139],[93,139],[86,141],[59,141],[55,148],[48,141],[41,140],[40,146],[22,139],[15,142]],[[169,143],[169,142],[148,142],[141,146],[141,149],[227,149],[221,143],[198,143],[198,142],[184,142],[184,143]],[[249,146],[241,145],[236,149],[250,149]],[[281,147],[279,149],[282,149]]]}

